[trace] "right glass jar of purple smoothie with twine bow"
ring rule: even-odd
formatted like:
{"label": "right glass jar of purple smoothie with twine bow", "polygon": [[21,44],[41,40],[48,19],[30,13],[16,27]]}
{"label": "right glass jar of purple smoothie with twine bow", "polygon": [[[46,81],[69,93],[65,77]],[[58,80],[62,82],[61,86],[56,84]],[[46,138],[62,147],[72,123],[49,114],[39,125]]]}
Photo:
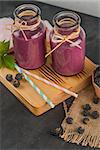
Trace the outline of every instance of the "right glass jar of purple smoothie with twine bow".
{"label": "right glass jar of purple smoothie with twine bow", "polygon": [[[85,31],[80,17],[71,11],[62,11],[53,18],[54,30],[50,34],[52,67],[65,76],[75,75],[84,68]],[[64,41],[65,40],[65,41]]]}

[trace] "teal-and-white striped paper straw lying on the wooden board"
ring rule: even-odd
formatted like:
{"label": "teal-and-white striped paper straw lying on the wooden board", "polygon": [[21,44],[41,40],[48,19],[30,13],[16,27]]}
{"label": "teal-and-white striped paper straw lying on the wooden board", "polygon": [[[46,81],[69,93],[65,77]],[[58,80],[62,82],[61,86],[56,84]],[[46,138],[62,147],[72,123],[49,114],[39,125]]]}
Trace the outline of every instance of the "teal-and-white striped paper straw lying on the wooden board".
{"label": "teal-and-white striped paper straw lying on the wooden board", "polygon": [[36,84],[32,82],[32,80],[23,72],[23,70],[15,64],[16,70],[21,73],[26,81],[33,87],[33,89],[51,106],[51,108],[54,108],[55,105],[51,102],[51,100],[37,87]]}

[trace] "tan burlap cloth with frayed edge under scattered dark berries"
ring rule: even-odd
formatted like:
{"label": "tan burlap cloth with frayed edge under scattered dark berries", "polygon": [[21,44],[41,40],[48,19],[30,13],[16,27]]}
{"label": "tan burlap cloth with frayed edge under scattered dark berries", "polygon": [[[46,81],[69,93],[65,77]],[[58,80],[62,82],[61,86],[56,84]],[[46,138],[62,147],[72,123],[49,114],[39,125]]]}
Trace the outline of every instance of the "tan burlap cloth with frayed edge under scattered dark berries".
{"label": "tan burlap cloth with frayed edge under scattered dark berries", "polygon": [[[63,120],[61,126],[63,128],[63,134],[60,135],[67,142],[81,144],[82,146],[89,145],[90,147],[100,148],[100,116],[98,119],[92,119],[89,117],[90,121],[87,125],[82,123],[82,106],[85,104],[90,104],[91,111],[97,110],[100,113],[100,102],[99,104],[94,104],[92,99],[94,97],[94,90],[92,86],[88,86],[82,92],[80,92],[79,97],[74,100],[69,112],[67,113],[66,103],[64,102],[64,109],[66,117]],[[90,112],[91,112],[90,111]],[[67,124],[66,118],[70,116],[73,118],[73,124]],[[78,127],[83,127],[85,132],[79,134],[76,132]]]}

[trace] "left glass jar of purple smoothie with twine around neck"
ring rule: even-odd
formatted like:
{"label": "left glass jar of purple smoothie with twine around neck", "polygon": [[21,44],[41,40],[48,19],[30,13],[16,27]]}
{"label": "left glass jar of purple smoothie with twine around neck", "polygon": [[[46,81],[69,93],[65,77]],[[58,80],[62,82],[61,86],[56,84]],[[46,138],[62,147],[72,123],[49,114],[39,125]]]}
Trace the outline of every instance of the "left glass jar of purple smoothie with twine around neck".
{"label": "left glass jar of purple smoothie with twine around neck", "polygon": [[36,69],[45,63],[46,28],[40,14],[40,9],[32,4],[14,11],[14,53],[18,65],[25,69]]}

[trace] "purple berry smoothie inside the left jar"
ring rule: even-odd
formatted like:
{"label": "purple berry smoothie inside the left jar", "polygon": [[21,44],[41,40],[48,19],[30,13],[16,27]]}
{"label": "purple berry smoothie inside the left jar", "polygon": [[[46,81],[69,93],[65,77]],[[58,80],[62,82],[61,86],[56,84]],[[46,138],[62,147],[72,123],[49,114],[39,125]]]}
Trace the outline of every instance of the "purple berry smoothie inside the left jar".
{"label": "purple berry smoothie inside the left jar", "polygon": [[[32,5],[33,7],[34,5]],[[20,6],[21,7],[21,6]],[[25,7],[28,7],[25,6]],[[37,19],[33,19],[32,16],[22,16],[20,20],[27,21],[28,25],[35,24]],[[18,65],[25,69],[36,69],[41,67],[45,63],[45,38],[46,29],[41,21],[36,30],[24,30],[27,37],[25,40],[22,31],[17,30],[13,33],[14,53]]]}

